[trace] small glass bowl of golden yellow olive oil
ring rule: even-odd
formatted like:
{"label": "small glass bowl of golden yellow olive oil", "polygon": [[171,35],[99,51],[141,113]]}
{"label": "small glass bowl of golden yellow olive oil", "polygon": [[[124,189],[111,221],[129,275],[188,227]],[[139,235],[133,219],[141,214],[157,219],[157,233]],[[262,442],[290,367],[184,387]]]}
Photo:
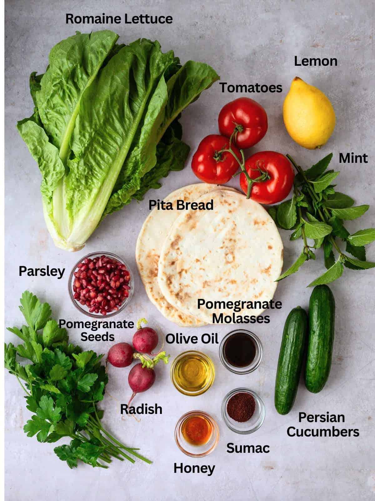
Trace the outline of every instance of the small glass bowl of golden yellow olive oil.
{"label": "small glass bowl of golden yellow olive oil", "polygon": [[215,378],[212,361],[199,351],[180,353],[170,367],[174,387],[184,395],[201,395],[210,388]]}

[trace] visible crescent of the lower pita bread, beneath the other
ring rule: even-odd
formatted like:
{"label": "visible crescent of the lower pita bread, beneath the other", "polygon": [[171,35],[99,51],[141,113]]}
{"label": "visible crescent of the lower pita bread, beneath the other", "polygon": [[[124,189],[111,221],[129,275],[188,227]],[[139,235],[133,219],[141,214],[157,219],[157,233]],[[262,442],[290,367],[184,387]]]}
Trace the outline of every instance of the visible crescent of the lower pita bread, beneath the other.
{"label": "visible crescent of the lower pita bread, beneath the other", "polygon": [[176,210],[177,200],[192,202],[218,189],[234,190],[217,184],[197,183],[173,191],[164,199],[165,202],[172,203],[173,210],[157,210],[155,207],[145,219],[136,242],[135,260],[149,300],[167,320],[180,327],[199,327],[205,325],[205,322],[172,306],[161,293],[157,283],[157,264],[161,248],[168,231],[181,214],[181,210]]}

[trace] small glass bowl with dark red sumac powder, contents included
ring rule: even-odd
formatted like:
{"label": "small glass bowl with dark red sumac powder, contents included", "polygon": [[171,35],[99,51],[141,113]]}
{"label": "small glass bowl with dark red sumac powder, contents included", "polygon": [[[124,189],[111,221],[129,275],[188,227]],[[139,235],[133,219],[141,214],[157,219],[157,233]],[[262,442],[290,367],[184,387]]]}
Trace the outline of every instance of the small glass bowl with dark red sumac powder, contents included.
{"label": "small glass bowl with dark red sumac powder, contents included", "polygon": [[225,395],[221,416],[231,431],[242,435],[253,433],[263,424],[264,402],[254,391],[236,388]]}

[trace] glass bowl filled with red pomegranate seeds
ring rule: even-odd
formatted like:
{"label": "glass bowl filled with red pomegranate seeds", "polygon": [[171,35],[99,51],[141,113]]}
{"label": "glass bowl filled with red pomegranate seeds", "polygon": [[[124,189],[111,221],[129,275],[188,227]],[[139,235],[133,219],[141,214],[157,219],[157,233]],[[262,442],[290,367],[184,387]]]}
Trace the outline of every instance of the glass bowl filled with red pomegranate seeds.
{"label": "glass bowl filled with red pomegranate seeds", "polygon": [[74,306],[89,317],[113,317],[130,301],[133,277],[124,261],[111,253],[91,253],[70,272],[69,295]]}

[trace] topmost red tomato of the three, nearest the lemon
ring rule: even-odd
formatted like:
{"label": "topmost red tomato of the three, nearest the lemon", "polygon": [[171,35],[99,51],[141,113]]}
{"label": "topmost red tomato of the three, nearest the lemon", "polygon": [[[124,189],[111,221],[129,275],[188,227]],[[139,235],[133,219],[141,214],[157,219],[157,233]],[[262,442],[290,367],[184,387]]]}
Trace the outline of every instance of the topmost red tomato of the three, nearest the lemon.
{"label": "topmost red tomato of the three, nearest the lemon", "polygon": [[230,137],[236,125],[242,126],[237,132],[234,144],[238,148],[250,148],[260,141],[267,132],[267,114],[259,103],[248,97],[239,97],[227,103],[218,117],[220,134]]}

